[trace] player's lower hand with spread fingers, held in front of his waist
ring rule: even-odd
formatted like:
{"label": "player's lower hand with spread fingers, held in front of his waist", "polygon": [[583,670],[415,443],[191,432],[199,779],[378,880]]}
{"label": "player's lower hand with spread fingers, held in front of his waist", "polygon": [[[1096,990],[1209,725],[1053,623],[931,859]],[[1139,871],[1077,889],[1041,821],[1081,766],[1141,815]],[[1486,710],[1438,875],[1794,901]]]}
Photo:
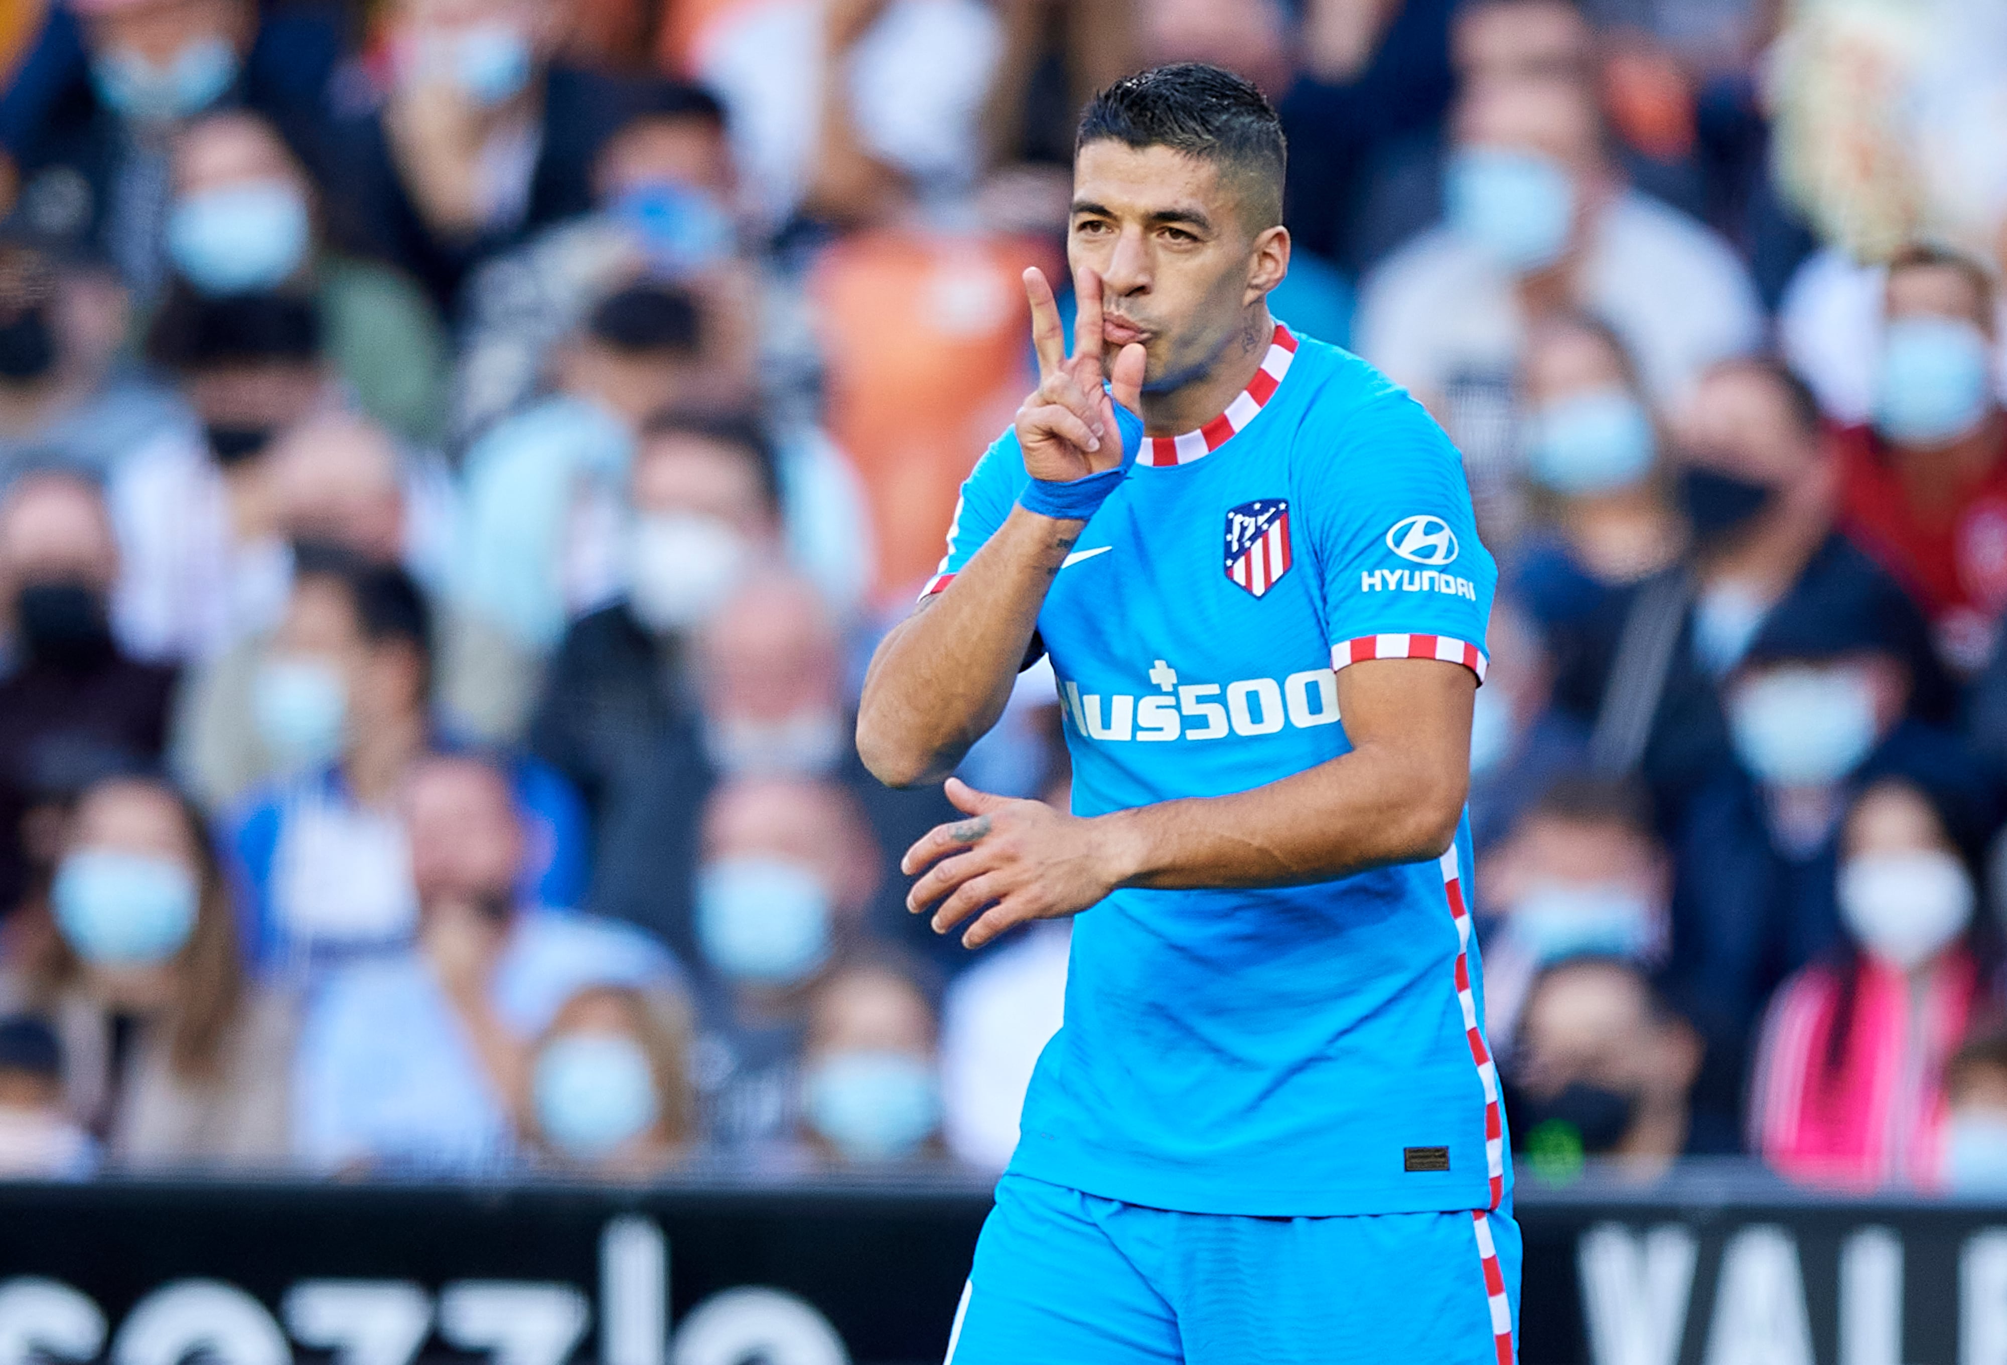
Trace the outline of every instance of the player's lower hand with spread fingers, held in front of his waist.
{"label": "player's lower hand with spread fingers, held in front of his waist", "polygon": [[961,943],[981,947],[1012,925],[1080,913],[1116,889],[1108,841],[1094,821],[1044,801],[991,797],[955,777],[947,799],[967,819],[929,829],[899,859],[905,875],[925,873],[905,907],[917,915],[937,905],[935,933],[973,915]]}

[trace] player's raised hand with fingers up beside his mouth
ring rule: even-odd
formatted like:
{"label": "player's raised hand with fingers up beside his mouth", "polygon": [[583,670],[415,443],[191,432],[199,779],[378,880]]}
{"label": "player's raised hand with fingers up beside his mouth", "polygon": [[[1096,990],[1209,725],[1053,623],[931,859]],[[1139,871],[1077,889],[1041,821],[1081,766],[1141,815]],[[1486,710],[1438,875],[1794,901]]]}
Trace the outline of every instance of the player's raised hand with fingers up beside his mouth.
{"label": "player's raised hand with fingers up beside his mouth", "polygon": [[1032,345],[1038,349],[1038,387],[1018,407],[1018,446],[1032,478],[1076,480],[1122,464],[1122,436],[1116,432],[1114,401],[1130,412],[1142,403],[1144,349],[1140,341],[1122,347],[1114,373],[1102,373],[1102,277],[1082,267],[1074,271],[1074,353],[1066,353],[1060,303],[1046,273],[1036,265],[1024,273],[1024,293],[1032,301]]}

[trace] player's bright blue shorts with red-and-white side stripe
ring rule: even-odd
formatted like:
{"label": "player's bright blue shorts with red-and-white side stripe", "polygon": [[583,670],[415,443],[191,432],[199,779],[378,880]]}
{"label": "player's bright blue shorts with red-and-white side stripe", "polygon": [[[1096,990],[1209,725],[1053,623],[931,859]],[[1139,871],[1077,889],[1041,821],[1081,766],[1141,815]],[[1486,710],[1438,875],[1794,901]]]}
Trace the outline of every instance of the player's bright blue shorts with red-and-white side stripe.
{"label": "player's bright blue shorts with red-and-white side stripe", "polygon": [[1240,1218],[1004,1176],[947,1365],[1511,1365],[1507,1212]]}

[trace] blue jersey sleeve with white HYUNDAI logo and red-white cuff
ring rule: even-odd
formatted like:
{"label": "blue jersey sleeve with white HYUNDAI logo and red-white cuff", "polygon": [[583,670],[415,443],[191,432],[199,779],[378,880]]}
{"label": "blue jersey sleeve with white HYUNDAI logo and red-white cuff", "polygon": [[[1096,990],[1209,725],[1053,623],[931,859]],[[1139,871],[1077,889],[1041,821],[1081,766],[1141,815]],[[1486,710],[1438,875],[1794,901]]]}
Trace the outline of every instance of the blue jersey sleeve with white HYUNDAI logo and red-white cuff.
{"label": "blue jersey sleeve with white HYUNDAI logo and red-white cuff", "polygon": [[1313,450],[1305,492],[1331,666],[1441,658],[1481,682],[1497,566],[1477,540],[1457,448],[1389,383]]}

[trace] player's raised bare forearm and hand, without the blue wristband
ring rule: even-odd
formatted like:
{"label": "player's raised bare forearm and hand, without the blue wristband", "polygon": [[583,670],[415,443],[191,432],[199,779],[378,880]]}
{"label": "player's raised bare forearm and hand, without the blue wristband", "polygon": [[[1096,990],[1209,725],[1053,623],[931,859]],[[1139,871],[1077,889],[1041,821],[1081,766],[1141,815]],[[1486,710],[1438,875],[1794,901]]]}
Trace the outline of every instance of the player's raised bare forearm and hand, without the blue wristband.
{"label": "player's raised bare forearm and hand, without the blue wristband", "polygon": [[[1028,269],[1024,287],[1040,369],[1016,422],[1026,470],[1048,482],[1112,470],[1122,462],[1122,444],[1102,387],[1102,279],[1086,267],[1074,273],[1080,315],[1072,357],[1044,273]],[[1134,412],[1144,347],[1124,345],[1110,369],[1114,401]],[[879,781],[939,781],[1004,715],[1046,588],[1084,524],[1012,510],[967,568],[885,636],[857,709],[857,753]]]}

